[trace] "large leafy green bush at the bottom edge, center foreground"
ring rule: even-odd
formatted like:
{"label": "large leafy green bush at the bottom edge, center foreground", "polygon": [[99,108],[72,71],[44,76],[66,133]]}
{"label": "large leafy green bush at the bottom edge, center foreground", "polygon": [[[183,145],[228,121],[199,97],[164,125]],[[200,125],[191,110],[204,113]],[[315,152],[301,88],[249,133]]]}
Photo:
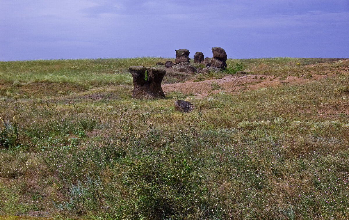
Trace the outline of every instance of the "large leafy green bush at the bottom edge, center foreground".
{"label": "large leafy green bush at the bottom edge, center foreground", "polygon": [[121,172],[116,172],[128,189],[122,202],[123,219],[186,216],[200,204],[205,190],[198,163],[171,154],[143,152],[139,159],[125,158]]}

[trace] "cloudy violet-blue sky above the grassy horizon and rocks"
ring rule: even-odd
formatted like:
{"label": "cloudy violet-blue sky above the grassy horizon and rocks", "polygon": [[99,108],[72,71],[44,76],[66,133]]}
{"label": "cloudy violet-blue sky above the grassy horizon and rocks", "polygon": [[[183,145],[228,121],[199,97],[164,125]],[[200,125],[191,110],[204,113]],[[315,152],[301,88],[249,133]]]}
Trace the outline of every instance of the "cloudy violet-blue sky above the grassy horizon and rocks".
{"label": "cloudy violet-blue sky above the grassy horizon and rocks", "polygon": [[349,58],[349,0],[0,0],[0,60]]}

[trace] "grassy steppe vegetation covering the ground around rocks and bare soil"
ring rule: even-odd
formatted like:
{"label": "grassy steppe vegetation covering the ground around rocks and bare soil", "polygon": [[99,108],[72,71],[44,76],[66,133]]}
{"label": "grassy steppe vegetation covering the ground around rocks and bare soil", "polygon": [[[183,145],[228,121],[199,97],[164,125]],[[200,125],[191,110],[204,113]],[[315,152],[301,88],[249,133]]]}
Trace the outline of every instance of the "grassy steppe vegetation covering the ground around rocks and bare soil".
{"label": "grassy steppe vegetation covering the ground around rocks and bare soil", "polygon": [[[278,78],[332,75],[204,98],[132,99],[128,66],[166,60],[0,62],[0,215],[349,218],[348,61],[228,59],[227,71],[200,77],[241,65]],[[176,99],[196,108],[178,112]]]}

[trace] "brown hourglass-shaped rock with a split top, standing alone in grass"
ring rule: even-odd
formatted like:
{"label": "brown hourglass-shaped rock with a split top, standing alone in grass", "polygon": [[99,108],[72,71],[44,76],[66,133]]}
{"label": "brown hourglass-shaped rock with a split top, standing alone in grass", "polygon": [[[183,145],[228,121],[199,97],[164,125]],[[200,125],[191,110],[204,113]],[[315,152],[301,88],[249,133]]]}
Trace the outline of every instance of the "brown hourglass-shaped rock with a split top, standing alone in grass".
{"label": "brown hourglass-shaped rock with a split top, standing alone in grass", "polygon": [[[165,93],[161,88],[161,82],[166,71],[162,68],[145,66],[130,66],[129,72],[133,78],[133,98],[165,98]],[[145,80],[147,70],[148,79]]]}

